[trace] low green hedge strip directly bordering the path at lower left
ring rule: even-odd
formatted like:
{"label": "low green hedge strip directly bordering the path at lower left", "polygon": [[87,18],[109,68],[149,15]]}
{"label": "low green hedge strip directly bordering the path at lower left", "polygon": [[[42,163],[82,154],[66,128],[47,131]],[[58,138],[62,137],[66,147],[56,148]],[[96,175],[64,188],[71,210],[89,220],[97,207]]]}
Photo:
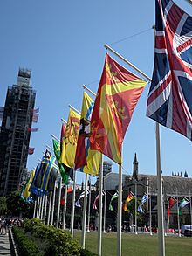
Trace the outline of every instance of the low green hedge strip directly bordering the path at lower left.
{"label": "low green hedge strip directly bordering the path at lower left", "polygon": [[42,256],[43,253],[39,251],[38,246],[36,246],[30,239],[28,239],[23,230],[19,227],[13,227],[13,233],[17,240],[19,253],[23,256],[36,255]]}

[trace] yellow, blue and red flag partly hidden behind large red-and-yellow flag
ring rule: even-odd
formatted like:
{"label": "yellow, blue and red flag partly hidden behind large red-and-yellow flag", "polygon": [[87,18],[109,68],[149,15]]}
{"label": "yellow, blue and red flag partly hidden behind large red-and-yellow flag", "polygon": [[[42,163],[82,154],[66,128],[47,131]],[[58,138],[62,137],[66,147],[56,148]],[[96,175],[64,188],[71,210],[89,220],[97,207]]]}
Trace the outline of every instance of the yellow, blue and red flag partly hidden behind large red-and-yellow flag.
{"label": "yellow, blue and red flag partly hidden behind large red-and-yellow flag", "polygon": [[93,99],[84,92],[81,108],[79,136],[75,155],[75,169],[98,176],[101,153],[90,149],[90,121],[93,112]]}

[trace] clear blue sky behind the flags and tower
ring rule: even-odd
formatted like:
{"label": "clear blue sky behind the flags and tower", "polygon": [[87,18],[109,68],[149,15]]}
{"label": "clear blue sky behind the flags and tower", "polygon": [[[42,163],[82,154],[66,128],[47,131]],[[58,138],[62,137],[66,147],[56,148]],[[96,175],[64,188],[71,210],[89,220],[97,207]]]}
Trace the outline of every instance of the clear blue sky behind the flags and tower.
{"label": "clear blue sky behind the flags and tower", "polygon": [[[192,15],[192,6],[175,0]],[[29,170],[37,165],[51,134],[59,137],[61,118],[71,104],[80,110],[82,85],[97,92],[106,50],[111,45],[151,77],[154,66],[154,0],[17,0],[0,3],[0,106],[7,87],[17,82],[19,67],[31,69],[31,85],[40,108],[37,133],[31,134]],[[110,53],[110,52],[109,52]],[[111,56],[122,64],[122,62]],[[127,65],[124,65],[133,72]],[[137,73],[136,73],[137,74]],[[146,117],[148,85],[135,108],[123,143],[125,174],[133,170],[137,153],[139,172],[156,173],[154,121]],[[161,127],[163,175],[185,170],[192,176],[192,144],[182,135]],[[118,166],[113,165],[118,171]],[[83,176],[78,175],[81,183]]]}

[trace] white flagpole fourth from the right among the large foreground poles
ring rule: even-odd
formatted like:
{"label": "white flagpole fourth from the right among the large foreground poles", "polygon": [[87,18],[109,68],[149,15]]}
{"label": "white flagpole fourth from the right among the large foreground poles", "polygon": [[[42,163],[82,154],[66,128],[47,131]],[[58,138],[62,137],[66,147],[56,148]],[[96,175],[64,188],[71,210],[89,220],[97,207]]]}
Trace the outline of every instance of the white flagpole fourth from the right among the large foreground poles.
{"label": "white flagpole fourth from the right among the large foreground poles", "polygon": [[87,181],[88,181],[88,174],[86,173],[85,196],[84,196],[84,205],[83,205],[83,223],[82,223],[82,233],[81,233],[81,246],[83,249],[85,249],[85,246],[86,246]]}

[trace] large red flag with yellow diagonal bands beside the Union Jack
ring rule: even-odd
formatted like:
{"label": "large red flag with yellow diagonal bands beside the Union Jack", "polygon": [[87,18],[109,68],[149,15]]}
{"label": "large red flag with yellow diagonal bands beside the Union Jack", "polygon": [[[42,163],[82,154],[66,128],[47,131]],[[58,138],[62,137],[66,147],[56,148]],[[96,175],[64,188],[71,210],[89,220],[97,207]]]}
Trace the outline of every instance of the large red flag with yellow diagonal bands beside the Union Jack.
{"label": "large red flag with yellow diagonal bands beside the Union Jack", "polygon": [[91,149],[121,164],[123,138],[146,84],[106,53],[91,119]]}

